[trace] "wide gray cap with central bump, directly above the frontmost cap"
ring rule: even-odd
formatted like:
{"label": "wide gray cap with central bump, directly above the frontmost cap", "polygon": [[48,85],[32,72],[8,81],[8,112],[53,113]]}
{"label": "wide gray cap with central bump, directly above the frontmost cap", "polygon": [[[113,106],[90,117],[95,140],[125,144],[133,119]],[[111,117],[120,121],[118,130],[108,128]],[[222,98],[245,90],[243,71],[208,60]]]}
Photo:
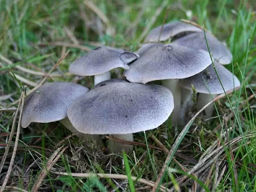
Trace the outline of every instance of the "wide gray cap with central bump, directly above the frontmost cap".
{"label": "wide gray cap with central bump, directly above the frontmost cap", "polygon": [[126,79],[146,84],[164,79],[183,79],[203,71],[212,61],[208,52],[178,44],[150,43],[142,47],[140,58],[124,71]]}

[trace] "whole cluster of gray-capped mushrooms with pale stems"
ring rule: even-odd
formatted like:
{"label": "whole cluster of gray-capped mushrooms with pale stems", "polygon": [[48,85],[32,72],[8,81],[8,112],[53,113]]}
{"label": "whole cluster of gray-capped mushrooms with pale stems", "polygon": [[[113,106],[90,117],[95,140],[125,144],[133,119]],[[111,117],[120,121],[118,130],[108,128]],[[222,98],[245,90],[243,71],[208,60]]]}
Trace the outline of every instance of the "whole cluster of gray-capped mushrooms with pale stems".
{"label": "whole cluster of gray-capped mushrooms with pale stems", "polygon": [[[87,144],[102,147],[100,135],[133,141],[132,133],[157,128],[171,113],[173,125],[184,123],[192,106],[192,87],[199,93],[200,109],[216,94],[240,86],[237,77],[222,66],[231,62],[230,51],[212,34],[205,35],[214,63],[201,28],[184,22],[161,28],[149,32],[136,53],[100,46],[76,59],[69,72],[94,76],[94,87],[89,90],[69,82],[40,86],[25,99],[21,126],[60,121],[71,132],[78,131]],[[114,68],[123,68],[126,79],[111,79]],[[155,80],[162,85],[147,84]],[[212,111],[208,108],[205,118]],[[129,152],[132,146],[108,142],[110,152],[123,149]]]}

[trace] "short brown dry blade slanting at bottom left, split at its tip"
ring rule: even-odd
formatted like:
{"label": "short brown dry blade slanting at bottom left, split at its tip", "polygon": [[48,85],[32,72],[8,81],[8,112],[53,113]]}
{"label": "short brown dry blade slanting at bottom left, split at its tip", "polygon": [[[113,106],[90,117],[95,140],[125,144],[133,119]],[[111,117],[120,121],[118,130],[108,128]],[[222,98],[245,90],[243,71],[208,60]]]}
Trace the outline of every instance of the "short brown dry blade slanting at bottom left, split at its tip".
{"label": "short brown dry blade slanting at bottom left, split at its tip", "polygon": [[[34,186],[32,187],[31,191],[32,192],[36,192],[38,191],[38,188],[40,187],[40,185],[42,184],[42,182],[44,181],[44,178],[46,177],[47,173],[51,170],[51,168],[53,167],[53,165],[59,160],[60,156],[62,155],[62,153],[66,150],[65,147],[64,149],[62,149],[62,151],[60,152],[60,149],[62,147],[58,148],[51,156],[51,158],[48,160],[48,162],[45,164],[43,170],[41,171],[41,173],[39,174]],[[60,152],[60,153],[59,153]],[[58,154],[59,153],[59,154]]]}

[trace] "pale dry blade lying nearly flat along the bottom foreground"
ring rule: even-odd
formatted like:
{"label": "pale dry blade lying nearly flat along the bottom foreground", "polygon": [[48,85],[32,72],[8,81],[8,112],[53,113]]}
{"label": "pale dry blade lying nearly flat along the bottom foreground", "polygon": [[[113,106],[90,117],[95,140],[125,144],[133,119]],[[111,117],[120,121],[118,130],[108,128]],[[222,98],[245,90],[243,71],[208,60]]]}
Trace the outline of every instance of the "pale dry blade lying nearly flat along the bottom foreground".
{"label": "pale dry blade lying nearly flat along the bottom foreground", "polygon": [[[73,177],[100,177],[100,178],[110,178],[110,179],[123,179],[123,180],[127,180],[128,177],[126,175],[119,175],[119,174],[105,174],[105,173],[66,173],[66,172],[52,172],[58,175],[70,175]],[[155,185],[155,183],[153,181],[149,181],[146,179],[138,179],[137,177],[132,176],[132,180],[133,181],[137,181],[140,182],[142,184],[148,185],[150,187],[153,187]],[[161,191],[166,192],[167,188],[165,188],[164,186],[159,186]]]}

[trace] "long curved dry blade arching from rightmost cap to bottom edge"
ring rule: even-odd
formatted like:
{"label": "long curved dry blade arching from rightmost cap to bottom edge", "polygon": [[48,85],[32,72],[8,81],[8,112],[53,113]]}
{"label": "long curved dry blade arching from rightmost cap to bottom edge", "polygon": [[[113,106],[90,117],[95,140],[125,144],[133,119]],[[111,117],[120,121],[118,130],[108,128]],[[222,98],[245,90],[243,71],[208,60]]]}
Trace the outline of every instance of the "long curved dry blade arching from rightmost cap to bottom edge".
{"label": "long curved dry blade arching from rightmost cap to bottom edge", "polygon": [[[238,89],[240,89],[240,87],[237,87],[235,90],[238,90]],[[162,177],[163,177],[163,175],[164,175],[164,172],[165,172],[167,166],[169,165],[169,163],[170,163],[170,161],[171,161],[171,159],[172,159],[172,157],[173,157],[173,155],[174,155],[174,152],[176,151],[176,149],[177,149],[178,146],[180,145],[180,142],[181,142],[181,140],[182,140],[182,138],[183,138],[183,135],[188,131],[190,125],[194,122],[194,120],[196,119],[196,117],[197,117],[201,112],[203,112],[205,108],[207,108],[208,106],[210,106],[212,103],[214,103],[215,101],[217,101],[217,100],[219,100],[219,99],[225,97],[226,94],[230,94],[230,93],[232,93],[232,92],[234,92],[234,90],[229,90],[228,92],[219,95],[218,97],[216,97],[215,99],[213,99],[212,101],[210,101],[209,103],[207,103],[207,104],[206,104],[203,108],[201,108],[201,109],[195,114],[195,116],[193,116],[193,117],[190,119],[190,121],[185,125],[185,127],[182,129],[182,131],[180,132],[179,136],[177,137],[177,139],[176,139],[175,142],[173,143],[172,148],[171,148],[171,150],[169,151],[168,156],[167,156],[166,159],[165,159],[164,165],[163,165],[163,167],[162,167],[162,169],[161,169],[161,172],[160,172],[160,174],[159,174],[159,176],[158,176],[158,178],[157,178],[157,180],[156,180],[156,185],[155,185],[154,188],[152,189],[152,192],[156,192],[156,189],[157,189],[157,187],[158,187],[160,181],[162,180]]]}

